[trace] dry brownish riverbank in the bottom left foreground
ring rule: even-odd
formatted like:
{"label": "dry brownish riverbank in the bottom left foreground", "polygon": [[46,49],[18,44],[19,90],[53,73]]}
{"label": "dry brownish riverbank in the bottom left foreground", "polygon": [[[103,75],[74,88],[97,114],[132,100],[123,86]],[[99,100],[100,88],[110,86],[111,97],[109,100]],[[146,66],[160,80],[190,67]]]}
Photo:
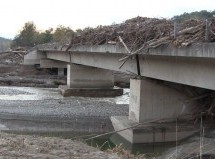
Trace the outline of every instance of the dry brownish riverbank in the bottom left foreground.
{"label": "dry brownish riverbank in the bottom left foreground", "polygon": [[0,158],[40,159],[120,159],[116,153],[102,152],[81,141],[0,133]]}

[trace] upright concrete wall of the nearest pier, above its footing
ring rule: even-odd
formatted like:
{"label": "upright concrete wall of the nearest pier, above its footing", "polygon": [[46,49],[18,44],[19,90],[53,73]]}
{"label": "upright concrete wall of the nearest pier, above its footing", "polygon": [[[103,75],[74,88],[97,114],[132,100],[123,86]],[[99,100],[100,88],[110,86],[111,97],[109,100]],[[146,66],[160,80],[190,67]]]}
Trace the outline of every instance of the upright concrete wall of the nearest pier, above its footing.
{"label": "upright concrete wall of the nearest pier, above its footing", "polygon": [[169,86],[151,79],[130,80],[129,119],[135,122],[151,120],[175,120],[191,116],[192,103],[189,98]]}

